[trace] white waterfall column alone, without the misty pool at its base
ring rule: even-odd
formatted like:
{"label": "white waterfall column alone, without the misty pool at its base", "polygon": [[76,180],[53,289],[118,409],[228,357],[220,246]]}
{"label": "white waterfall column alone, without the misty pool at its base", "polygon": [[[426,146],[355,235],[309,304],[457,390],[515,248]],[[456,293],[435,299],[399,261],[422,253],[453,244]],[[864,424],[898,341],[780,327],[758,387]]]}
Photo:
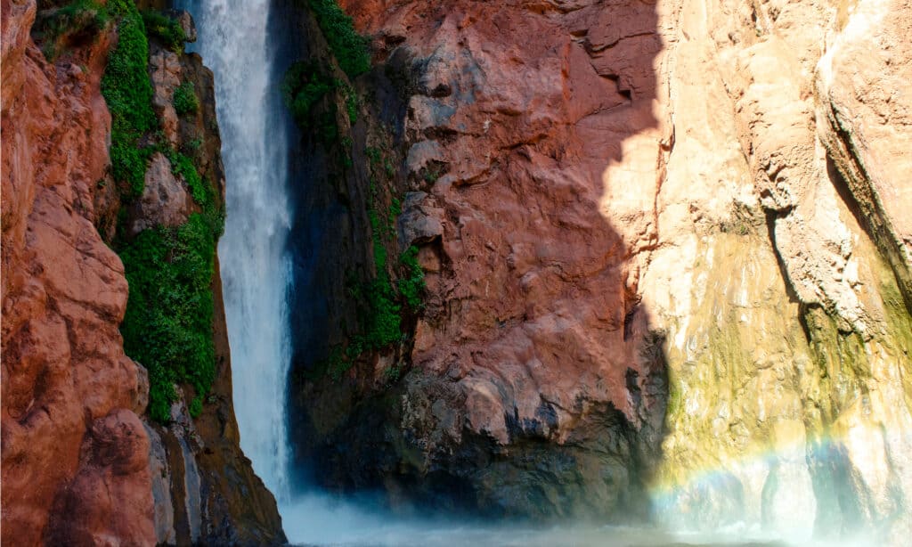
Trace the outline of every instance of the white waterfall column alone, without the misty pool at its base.
{"label": "white waterfall column alone, without the misty pool at its base", "polygon": [[286,243],[288,129],[276,81],[271,0],[181,0],[215,77],[227,221],[219,243],[241,448],[278,501],[287,500],[285,385],[290,363]]}

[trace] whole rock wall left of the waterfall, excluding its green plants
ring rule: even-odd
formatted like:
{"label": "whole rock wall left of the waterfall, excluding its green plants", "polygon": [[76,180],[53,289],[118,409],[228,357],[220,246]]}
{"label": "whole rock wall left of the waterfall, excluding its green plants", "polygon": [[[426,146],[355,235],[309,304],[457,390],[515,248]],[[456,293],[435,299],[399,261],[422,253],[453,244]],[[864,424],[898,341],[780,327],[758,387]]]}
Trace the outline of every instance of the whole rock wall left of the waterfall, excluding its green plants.
{"label": "whole rock wall left of the waterfall, excluding its green plants", "polygon": [[[100,92],[114,27],[52,64],[29,36],[36,3],[4,0],[2,13],[2,541],[284,541],[275,501],[238,445],[217,275],[210,404],[195,420],[183,409],[171,428],[181,434],[144,418],[146,369],[124,354],[119,333],[128,284],[99,234],[110,240],[119,209]],[[212,128],[203,170],[223,190],[212,74],[198,56],[180,61],[202,98],[181,124]],[[150,195],[133,215],[142,227],[187,214],[187,190],[167,163],[150,163]]]}

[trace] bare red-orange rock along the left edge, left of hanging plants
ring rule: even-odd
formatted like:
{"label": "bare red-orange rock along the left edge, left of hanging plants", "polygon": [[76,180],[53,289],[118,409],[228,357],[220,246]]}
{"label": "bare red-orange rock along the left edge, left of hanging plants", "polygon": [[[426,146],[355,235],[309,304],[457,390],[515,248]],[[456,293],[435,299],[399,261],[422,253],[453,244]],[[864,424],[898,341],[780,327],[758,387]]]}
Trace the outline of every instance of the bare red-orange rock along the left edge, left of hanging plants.
{"label": "bare red-orange rock along the left edge, left of hanging plants", "polygon": [[[135,465],[148,382],[120,341],[123,266],[92,225],[109,42],[54,67],[28,36],[34,17],[34,2],[3,4],[3,541],[151,544],[150,476]],[[66,518],[83,501],[103,505]]]}

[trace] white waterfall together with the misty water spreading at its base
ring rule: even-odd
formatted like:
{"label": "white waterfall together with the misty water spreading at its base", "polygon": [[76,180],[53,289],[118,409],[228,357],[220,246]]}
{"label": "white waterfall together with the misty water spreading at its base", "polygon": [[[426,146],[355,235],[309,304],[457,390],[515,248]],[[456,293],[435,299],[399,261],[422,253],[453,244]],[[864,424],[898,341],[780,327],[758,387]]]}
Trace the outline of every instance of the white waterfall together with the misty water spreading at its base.
{"label": "white waterfall together with the misty water spreading at its base", "polygon": [[[293,225],[288,152],[293,130],[276,82],[285,65],[273,0],[179,0],[196,21],[198,51],[215,77],[227,188],[219,243],[241,448],[275,494],[292,542],[348,545],[743,544],[745,531],[705,535],[565,525],[547,530],[393,517],[373,504],[294,491],[289,477],[286,381]],[[754,540],[768,540],[753,536]],[[784,544],[784,543],[775,543]],[[802,542],[803,544],[803,542]]]}

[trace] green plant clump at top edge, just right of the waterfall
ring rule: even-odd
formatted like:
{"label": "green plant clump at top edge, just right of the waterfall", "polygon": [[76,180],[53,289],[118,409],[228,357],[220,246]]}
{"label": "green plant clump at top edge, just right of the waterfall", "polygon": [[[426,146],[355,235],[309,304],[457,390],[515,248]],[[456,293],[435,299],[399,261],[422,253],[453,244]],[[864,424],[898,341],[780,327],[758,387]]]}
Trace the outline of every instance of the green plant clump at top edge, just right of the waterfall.
{"label": "green plant clump at top edge, just right of the waterfall", "polygon": [[357,77],[370,69],[368,39],[358,34],[336,0],[307,0],[316,24],[326,37],[326,44],[348,77]]}

